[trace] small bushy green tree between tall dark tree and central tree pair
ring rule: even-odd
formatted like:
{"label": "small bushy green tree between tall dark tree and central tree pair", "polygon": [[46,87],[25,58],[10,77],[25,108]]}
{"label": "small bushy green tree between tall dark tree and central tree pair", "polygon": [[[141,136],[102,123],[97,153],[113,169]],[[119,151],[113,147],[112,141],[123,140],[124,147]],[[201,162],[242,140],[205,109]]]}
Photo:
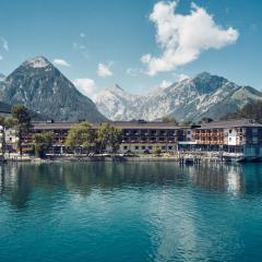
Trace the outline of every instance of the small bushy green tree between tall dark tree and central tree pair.
{"label": "small bushy green tree between tall dark tree and central tree pair", "polygon": [[35,154],[45,157],[48,148],[52,145],[52,132],[35,134]]}

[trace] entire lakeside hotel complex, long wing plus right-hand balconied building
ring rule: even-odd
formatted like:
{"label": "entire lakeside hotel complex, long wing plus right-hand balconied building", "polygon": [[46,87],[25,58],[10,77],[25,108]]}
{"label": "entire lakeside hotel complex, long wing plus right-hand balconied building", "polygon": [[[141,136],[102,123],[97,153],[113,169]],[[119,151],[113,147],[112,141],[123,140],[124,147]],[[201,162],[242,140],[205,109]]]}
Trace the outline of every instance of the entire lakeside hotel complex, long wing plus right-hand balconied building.
{"label": "entire lakeside hotel complex, long wing plus right-hand balconied building", "polygon": [[[252,120],[214,121],[200,126],[182,127],[171,122],[116,121],[108,122],[123,132],[119,153],[152,153],[177,151],[214,151],[242,153],[250,157],[262,156],[262,124]],[[52,132],[50,152],[66,153],[64,142],[69,130],[76,122],[34,122],[33,132],[23,139],[31,146],[34,133]],[[93,129],[106,124],[92,123]]]}

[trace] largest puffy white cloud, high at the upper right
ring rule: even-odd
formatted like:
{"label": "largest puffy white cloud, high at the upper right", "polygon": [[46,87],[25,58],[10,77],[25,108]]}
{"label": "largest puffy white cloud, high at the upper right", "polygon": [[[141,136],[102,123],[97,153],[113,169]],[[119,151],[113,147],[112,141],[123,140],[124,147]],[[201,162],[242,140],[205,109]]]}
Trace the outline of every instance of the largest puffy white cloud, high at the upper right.
{"label": "largest puffy white cloud, high at the upper right", "polygon": [[234,44],[239,36],[237,29],[224,29],[217,25],[205,9],[191,4],[190,14],[176,13],[177,2],[157,2],[150,15],[156,26],[156,40],[163,49],[159,57],[142,56],[147,74],[172,71],[199,58],[210,48],[219,49]]}

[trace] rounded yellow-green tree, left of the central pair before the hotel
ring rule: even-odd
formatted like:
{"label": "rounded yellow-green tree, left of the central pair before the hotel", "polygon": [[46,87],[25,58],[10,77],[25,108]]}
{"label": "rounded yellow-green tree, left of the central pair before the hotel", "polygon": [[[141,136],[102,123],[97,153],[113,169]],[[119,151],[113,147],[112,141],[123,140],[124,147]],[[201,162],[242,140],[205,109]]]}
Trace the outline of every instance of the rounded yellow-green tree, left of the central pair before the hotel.
{"label": "rounded yellow-green tree, left of the central pair before the hotel", "polygon": [[67,136],[66,145],[70,148],[91,150],[95,145],[96,133],[92,126],[87,122],[74,124]]}

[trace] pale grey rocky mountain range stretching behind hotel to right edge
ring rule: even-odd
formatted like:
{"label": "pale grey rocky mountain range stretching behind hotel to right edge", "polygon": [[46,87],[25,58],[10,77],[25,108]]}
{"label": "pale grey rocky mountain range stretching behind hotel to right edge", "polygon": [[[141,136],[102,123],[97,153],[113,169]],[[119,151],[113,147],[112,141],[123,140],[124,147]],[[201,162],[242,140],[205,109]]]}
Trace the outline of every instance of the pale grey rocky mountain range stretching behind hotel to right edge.
{"label": "pale grey rocky mountain range stretching behind hotel to right edge", "polygon": [[203,117],[218,119],[258,99],[262,99],[259,91],[203,72],[144,96],[109,87],[97,95],[95,103],[112,120],[156,120],[169,116],[179,121],[196,121]]}

